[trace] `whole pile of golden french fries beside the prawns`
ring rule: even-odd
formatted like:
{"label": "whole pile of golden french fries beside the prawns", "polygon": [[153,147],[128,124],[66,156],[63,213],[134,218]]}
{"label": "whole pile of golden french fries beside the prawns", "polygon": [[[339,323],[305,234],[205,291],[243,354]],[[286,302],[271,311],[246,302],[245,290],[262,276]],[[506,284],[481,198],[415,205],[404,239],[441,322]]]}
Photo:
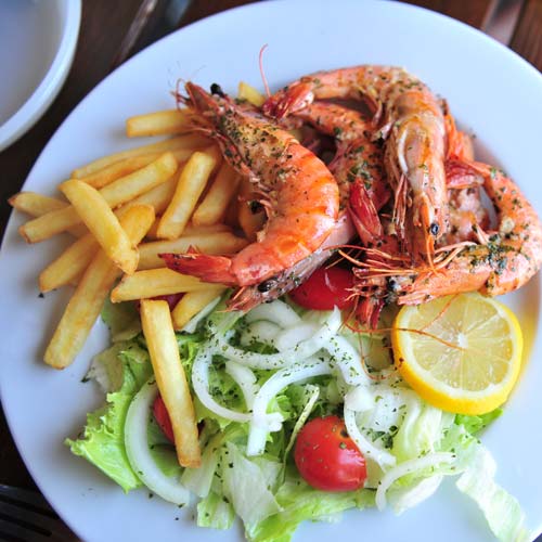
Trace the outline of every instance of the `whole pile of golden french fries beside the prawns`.
{"label": "whole pile of golden french fries beside the prawns", "polygon": [[[246,83],[240,85],[240,96],[261,103]],[[222,160],[212,141],[190,132],[192,115],[171,109],[131,117],[128,137],[168,138],[74,170],[59,185],[63,197],[21,192],[10,204],[33,217],[20,228],[27,243],[60,233],[75,237],[39,275],[42,293],[75,286],[47,347],[46,363],[64,369],[75,360],[108,295],[113,302],[143,300],[142,328],[179,462],[194,467],[201,461],[197,427],[175,331],[225,287],[171,271],[158,255],[190,248],[235,254],[254,242],[264,217],[250,210],[249,182]],[[152,300],[180,293],[184,295],[172,311],[166,301]]]}

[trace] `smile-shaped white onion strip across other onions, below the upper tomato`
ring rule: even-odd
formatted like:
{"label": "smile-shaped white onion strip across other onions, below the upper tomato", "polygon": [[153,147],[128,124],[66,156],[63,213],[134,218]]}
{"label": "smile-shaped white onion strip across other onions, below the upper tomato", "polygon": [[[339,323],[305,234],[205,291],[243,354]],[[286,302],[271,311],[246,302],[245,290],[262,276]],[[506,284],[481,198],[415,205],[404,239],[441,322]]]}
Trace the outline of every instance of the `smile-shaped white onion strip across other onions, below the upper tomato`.
{"label": "smile-shaped white onion strip across other onions, below the upper tomato", "polygon": [[[275,301],[273,301],[275,302]],[[256,310],[256,309],[254,309]],[[330,314],[318,332],[309,339],[288,348],[280,353],[256,353],[247,352],[228,343],[225,337],[217,335],[214,337],[217,352],[229,360],[236,361],[242,365],[253,369],[274,370],[282,369],[293,363],[302,361],[317,353],[333,337],[341,325],[340,310],[337,308]]]}

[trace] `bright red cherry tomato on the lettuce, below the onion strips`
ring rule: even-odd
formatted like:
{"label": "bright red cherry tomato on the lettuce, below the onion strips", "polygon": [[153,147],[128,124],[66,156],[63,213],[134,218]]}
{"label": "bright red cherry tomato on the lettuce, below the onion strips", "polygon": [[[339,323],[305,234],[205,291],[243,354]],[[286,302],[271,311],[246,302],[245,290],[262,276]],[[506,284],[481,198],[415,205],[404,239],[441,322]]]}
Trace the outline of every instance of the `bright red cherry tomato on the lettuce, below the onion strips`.
{"label": "bright red cherry tomato on the lettuce, below the onion strips", "polygon": [[311,420],[299,431],[294,459],[302,478],[323,491],[352,491],[367,477],[365,459],[337,416]]}

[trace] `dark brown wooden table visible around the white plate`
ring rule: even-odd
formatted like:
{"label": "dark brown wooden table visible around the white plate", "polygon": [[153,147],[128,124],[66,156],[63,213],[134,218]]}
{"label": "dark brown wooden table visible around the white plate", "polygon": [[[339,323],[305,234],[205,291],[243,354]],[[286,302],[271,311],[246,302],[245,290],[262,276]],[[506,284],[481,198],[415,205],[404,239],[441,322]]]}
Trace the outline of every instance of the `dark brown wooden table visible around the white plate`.
{"label": "dark brown wooden table visible around the white plate", "polygon": [[[42,119],[0,153],[0,233],[10,207],[8,197],[23,185],[41,150],[69,112],[113,68],[176,28],[212,13],[254,0],[194,0],[180,16],[183,2],[169,0],[83,0],[79,42],[63,90]],[[408,0],[488,30],[501,17],[499,38],[542,70],[541,0]],[[511,100],[514,100],[511,96]],[[0,482],[36,489],[0,412]],[[542,540],[542,539],[541,539]]]}

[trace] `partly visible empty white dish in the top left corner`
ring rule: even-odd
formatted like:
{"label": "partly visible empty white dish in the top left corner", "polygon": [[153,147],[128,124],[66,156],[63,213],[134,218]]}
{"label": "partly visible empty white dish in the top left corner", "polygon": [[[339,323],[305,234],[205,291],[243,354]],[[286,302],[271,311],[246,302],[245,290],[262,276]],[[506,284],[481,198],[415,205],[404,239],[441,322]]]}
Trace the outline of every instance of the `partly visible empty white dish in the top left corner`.
{"label": "partly visible empty white dish in the top left corner", "polygon": [[0,151],[47,111],[72,66],[80,0],[0,2]]}

